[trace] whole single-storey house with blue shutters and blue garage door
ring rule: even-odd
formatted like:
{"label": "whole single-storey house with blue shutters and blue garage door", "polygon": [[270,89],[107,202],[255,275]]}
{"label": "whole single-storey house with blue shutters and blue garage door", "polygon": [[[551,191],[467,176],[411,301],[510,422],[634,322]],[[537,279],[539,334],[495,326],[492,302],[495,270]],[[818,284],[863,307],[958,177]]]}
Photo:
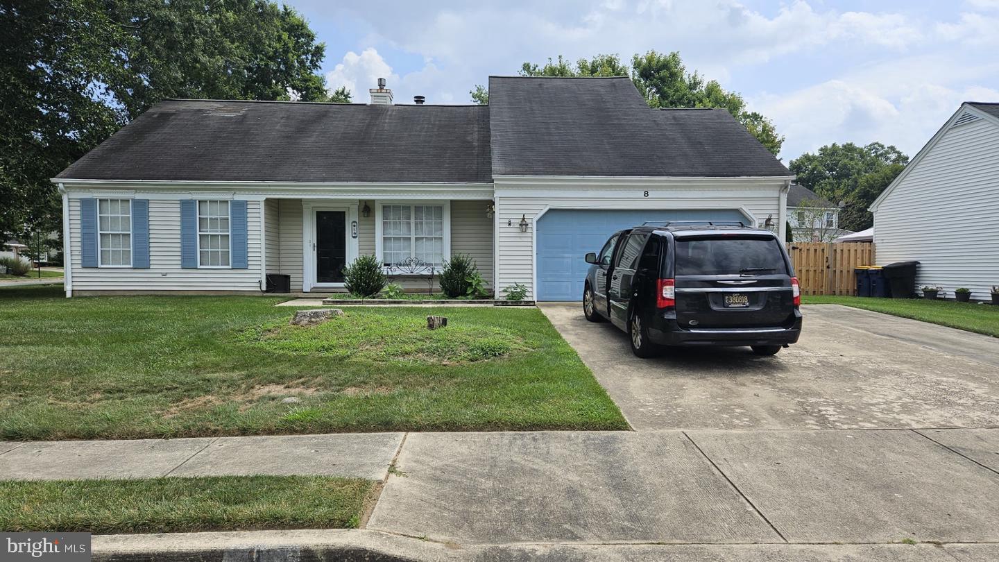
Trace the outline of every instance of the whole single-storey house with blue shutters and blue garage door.
{"label": "whole single-storey house with blue shutters and blue garage door", "polygon": [[491,77],[486,106],[370,92],[150,108],[52,180],[67,295],[259,293],[269,273],[329,293],[361,254],[398,274],[464,253],[498,294],[577,300],[584,254],[619,228],[739,220],[783,235],[793,176],[725,110],[650,109],[626,77]]}

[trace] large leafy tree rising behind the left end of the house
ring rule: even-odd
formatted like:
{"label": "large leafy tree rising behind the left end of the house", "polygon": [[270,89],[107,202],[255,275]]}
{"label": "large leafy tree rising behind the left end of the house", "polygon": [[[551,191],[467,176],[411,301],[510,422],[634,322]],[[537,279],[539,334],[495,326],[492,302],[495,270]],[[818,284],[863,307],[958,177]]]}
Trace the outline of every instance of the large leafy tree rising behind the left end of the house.
{"label": "large leafy tree rising behind the left end of the house", "polygon": [[161,99],[327,95],[325,46],[270,0],[0,0],[0,29],[0,239],[60,230],[49,178]]}

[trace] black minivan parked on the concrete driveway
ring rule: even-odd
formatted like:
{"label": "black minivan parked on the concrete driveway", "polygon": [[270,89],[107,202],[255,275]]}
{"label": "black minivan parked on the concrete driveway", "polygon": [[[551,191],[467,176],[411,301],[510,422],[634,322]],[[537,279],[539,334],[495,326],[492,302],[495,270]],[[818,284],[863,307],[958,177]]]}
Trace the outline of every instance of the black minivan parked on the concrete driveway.
{"label": "black minivan parked on the concrete driveway", "polygon": [[628,333],[631,351],[749,346],[773,355],[801,333],[801,290],[784,245],[741,223],[657,222],[586,254],[582,308]]}

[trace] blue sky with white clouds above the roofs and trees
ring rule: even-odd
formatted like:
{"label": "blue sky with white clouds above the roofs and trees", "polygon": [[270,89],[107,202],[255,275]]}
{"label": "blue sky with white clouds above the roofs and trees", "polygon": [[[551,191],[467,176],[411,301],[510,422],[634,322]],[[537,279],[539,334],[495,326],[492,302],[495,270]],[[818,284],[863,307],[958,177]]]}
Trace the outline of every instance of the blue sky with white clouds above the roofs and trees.
{"label": "blue sky with white clouds above the roofs and trees", "polygon": [[327,44],[323,71],[367,101],[469,103],[524,61],[679,51],[786,137],[788,161],[831,142],[910,156],[961,101],[999,101],[999,0],[285,0]]}

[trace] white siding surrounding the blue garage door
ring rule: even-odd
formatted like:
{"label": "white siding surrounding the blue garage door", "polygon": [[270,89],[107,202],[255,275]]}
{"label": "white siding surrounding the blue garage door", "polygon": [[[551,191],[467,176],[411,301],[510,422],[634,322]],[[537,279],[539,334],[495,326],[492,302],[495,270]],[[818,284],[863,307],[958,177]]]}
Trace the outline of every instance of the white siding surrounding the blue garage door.
{"label": "white siding surrounding the blue garage door", "polygon": [[[783,182],[772,185],[719,183],[711,185],[668,186],[629,189],[583,186],[551,188],[539,181],[536,185],[504,187],[497,178],[497,287],[498,295],[514,283],[527,287],[527,299],[534,298],[535,218],[545,208],[573,209],[739,209],[745,208],[758,222],[768,215],[781,220],[780,190]],[[644,197],[645,190],[649,197]],[[623,192],[623,193],[622,193]],[[520,217],[528,222],[527,232],[520,232]],[[507,221],[509,225],[507,225]],[[781,224],[781,222],[777,222]],[[594,248],[596,251],[598,248]]]}

